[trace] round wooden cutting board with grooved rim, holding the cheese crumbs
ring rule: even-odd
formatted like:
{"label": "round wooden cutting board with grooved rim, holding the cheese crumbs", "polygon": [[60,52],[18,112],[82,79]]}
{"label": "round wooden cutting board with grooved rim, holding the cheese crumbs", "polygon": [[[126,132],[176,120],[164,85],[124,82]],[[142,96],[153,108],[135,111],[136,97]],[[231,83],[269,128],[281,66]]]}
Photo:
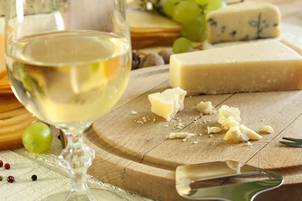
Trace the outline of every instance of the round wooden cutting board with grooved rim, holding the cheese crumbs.
{"label": "round wooden cutting board with grooved rim, holding the cheese crumbs", "polygon": [[[85,133],[87,145],[96,153],[89,174],[147,197],[183,200],[175,189],[177,166],[235,160],[283,175],[281,187],[262,193],[255,200],[302,200],[302,149],[278,143],[282,137],[302,138],[302,91],[186,97],[185,109],[176,116],[181,122],[167,122],[151,112],[147,98],[148,94],[167,88],[169,66],[132,71],[120,101]],[[199,116],[194,105],[201,101],[212,102],[216,109],[222,105],[239,108],[242,123],[263,139],[249,147],[243,142],[224,141],[225,132],[209,137],[207,126],[219,125],[216,115]],[[137,114],[132,115],[132,111]],[[177,128],[179,123],[184,125],[182,129]],[[261,133],[265,125],[272,126],[274,132]],[[174,132],[196,136],[186,142],[166,137]]]}

